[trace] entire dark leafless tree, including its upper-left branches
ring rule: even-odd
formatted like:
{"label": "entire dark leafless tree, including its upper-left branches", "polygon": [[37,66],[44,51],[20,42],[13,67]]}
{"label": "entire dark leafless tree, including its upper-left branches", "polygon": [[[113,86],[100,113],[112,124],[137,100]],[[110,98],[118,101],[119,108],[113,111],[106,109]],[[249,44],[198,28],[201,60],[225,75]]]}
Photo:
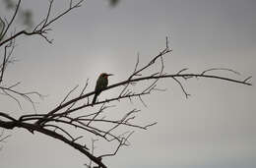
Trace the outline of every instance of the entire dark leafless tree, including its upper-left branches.
{"label": "entire dark leafless tree, including its upper-left branches", "polygon": [[[18,1],[14,15],[10,21],[2,18],[0,20],[3,25],[2,29],[0,29],[0,51],[3,53],[0,57],[0,93],[1,96],[15,100],[20,107],[22,107],[21,99],[29,101],[34,107],[32,96],[36,95],[41,97],[42,95],[39,92],[21,92],[16,89],[21,83],[10,85],[5,83],[5,71],[11,63],[15,62],[13,57],[15,39],[19,38],[21,35],[39,35],[45,39],[46,42],[51,43],[52,40],[47,36],[47,32],[51,30],[50,27],[69,12],[79,8],[84,0],[77,1],[76,3],[71,0],[68,8],[52,19],[50,19],[50,14],[53,1],[49,1],[49,8],[44,19],[32,28],[32,31],[27,31],[25,29],[17,32],[11,31],[10,28],[16,19],[21,2],[21,0]],[[140,110],[136,108],[123,112],[123,117],[121,118],[115,119],[108,117],[111,108],[115,107],[113,105],[114,102],[116,103],[123,99],[128,99],[130,101],[140,100],[142,104],[147,106],[143,97],[156,91],[164,91],[164,89],[160,89],[157,86],[158,82],[164,79],[172,79],[180,86],[181,91],[186,97],[190,94],[187,92],[183,83],[194,78],[216,79],[226,83],[251,85],[249,82],[251,77],[239,80],[215,75],[216,71],[227,71],[233,74],[238,74],[238,72],[224,68],[208,69],[200,73],[189,73],[188,69],[181,69],[174,74],[168,74],[164,72],[164,56],[171,51],[172,50],[169,48],[168,44],[168,38],[166,37],[164,48],[158,55],[153,56],[147,64],[141,65],[138,55],[134,71],[131,72],[129,77],[127,77],[127,80],[117,84],[111,84],[105,88],[105,90],[107,90],[119,87],[120,92],[113,97],[97,101],[94,106],[91,103],[91,99],[95,94],[95,91],[88,91],[87,86],[89,83],[86,83],[85,86],[80,88],[80,90],[79,86],[75,86],[73,89],[68,91],[66,96],[60,100],[59,104],[47,113],[37,112],[36,114],[24,114],[19,118],[14,118],[8,111],[1,111],[0,127],[7,130],[12,130],[14,128],[25,129],[32,134],[34,132],[38,132],[56,140],[63,141],[67,145],[72,146],[76,150],[85,154],[85,156],[91,160],[89,164],[86,164],[86,166],[105,168],[106,165],[103,163],[102,158],[113,156],[122,146],[129,145],[128,140],[134,133],[134,129],[147,130],[151,126],[157,124],[157,122],[146,125],[137,124],[134,119],[138,117]],[[159,67],[159,71],[155,71],[155,69],[153,69],[153,67],[156,68],[156,66]],[[151,73],[149,74],[149,72]],[[144,87],[140,84],[144,84]],[[75,98],[70,98],[71,94],[75,94]],[[83,113],[81,113],[81,111],[83,111]],[[126,131],[120,132],[118,130],[119,128],[125,129]],[[73,131],[71,131],[72,129]],[[76,133],[77,129],[83,131],[84,134],[72,134]],[[84,137],[85,135],[87,135],[87,138]],[[114,146],[113,151],[110,151],[109,153],[96,155],[94,152],[96,140],[92,140],[92,146],[83,143],[84,139],[88,139],[88,135],[96,137],[97,140],[115,141],[116,146]],[[0,141],[6,140],[8,137],[9,136],[4,136],[4,131],[2,131]]]}

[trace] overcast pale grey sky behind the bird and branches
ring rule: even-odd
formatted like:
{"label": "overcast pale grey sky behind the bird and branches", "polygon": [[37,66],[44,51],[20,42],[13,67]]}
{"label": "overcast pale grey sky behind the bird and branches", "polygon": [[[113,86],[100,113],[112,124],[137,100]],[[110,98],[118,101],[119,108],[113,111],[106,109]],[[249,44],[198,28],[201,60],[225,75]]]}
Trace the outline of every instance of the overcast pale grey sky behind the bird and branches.
{"label": "overcast pale grey sky behind the bird and branches", "polygon": [[[47,2],[24,0],[23,8],[32,9],[36,21],[45,15]],[[53,15],[64,5],[68,3],[56,1]],[[133,71],[137,53],[141,65],[147,63],[164,47],[166,35],[173,49],[165,57],[167,73],[222,67],[240,72],[238,79],[255,77],[255,11],[255,0],[122,0],[116,8],[103,0],[87,0],[54,25],[48,35],[53,45],[38,37],[17,40],[14,54],[20,61],[10,67],[8,77],[23,82],[21,89],[48,94],[37,106],[46,112],[76,84],[90,79],[88,90],[93,90],[101,72],[115,74],[109,84],[124,80]],[[251,82],[256,84],[255,78]],[[139,100],[114,103],[126,110],[140,108],[138,122],[158,125],[136,131],[131,146],[105,159],[109,167],[256,167],[255,86],[204,79],[185,85],[192,94],[188,99],[177,84],[166,80],[160,82],[165,92],[145,98],[148,108]],[[15,111],[13,116],[32,111],[28,107],[21,112],[8,102],[1,110]],[[10,134],[0,152],[1,168],[69,168],[88,162],[57,140],[19,129]]]}

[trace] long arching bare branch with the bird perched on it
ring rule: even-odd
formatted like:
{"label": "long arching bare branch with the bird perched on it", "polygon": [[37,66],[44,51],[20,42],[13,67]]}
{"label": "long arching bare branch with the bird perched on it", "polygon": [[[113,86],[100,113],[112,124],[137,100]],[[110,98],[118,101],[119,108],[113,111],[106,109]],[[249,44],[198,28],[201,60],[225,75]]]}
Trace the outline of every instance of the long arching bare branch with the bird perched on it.
{"label": "long arching bare branch with the bird perched on it", "polygon": [[[205,72],[203,73],[200,73],[200,74],[181,74],[182,72],[184,72],[185,70],[187,69],[183,69],[181,71],[179,71],[177,74],[173,74],[173,75],[168,75],[168,74],[162,74],[163,72],[163,60],[162,60],[162,56],[167,54],[168,52],[170,52],[171,50],[169,50],[168,48],[165,48],[163,49],[159,55],[155,56],[151,61],[150,63],[148,63],[145,67],[137,70],[135,73],[133,73],[129,78],[128,80],[126,81],[123,81],[123,82],[120,82],[120,83],[117,83],[117,84],[112,84],[112,85],[109,85],[107,86],[104,90],[107,90],[107,89],[110,89],[110,88],[113,88],[113,87],[118,87],[118,86],[121,86],[121,85],[125,85],[124,89],[122,89],[121,91],[121,94],[119,94],[119,96],[115,97],[115,98],[110,98],[110,99],[107,99],[107,100],[104,100],[104,101],[98,101],[96,102],[96,104],[102,104],[102,103],[105,103],[105,102],[111,102],[111,101],[114,101],[114,100],[120,100],[122,98],[131,98],[131,97],[135,97],[135,96],[138,96],[140,99],[141,99],[141,96],[142,95],[145,95],[145,94],[149,94],[151,90],[154,90],[154,88],[156,87],[156,83],[158,82],[159,79],[165,79],[165,78],[170,78],[170,79],[173,79],[177,84],[180,85],[180,87],[182,88],[182,91],[185,93],[186,97],[189,96],[189,94],[186,92],[184,86],[177,80],[178,78],[183,78],[183,79],[190,79],[190,78],[209,78],[209,79],[217,79],[217,80],[222,80],[222,81],[227,81],[227,82],[232,82],[232,83],[236,83],[236,84],[247,84],[247,85],[251,85],[250,83],[247,83],[247,80],[245,81],[239,81],[239,80],[234,80],[234,79],[229,79],[229,78],[225,78],[225,77],[220,77],[220,76],[214,76],[214,75],[205,75]],[[161,68],[160,68],[160,72],[159,73],[155,73],[153,74],[152,76],[146,76],[146,77],[140,77],[140,78],[133,78],[135,77],[138,73],[142,73],[143,70],[149,68],[150,66],[152,66],[153,64],[155,64],[156,60],[157,59],[160,59],[160,63],[161,63]],[[137,61],[138,62],[138,61]],[[137,63],[136,63],[137,64]],[[224,70],[224,69],[223,69]],[[134,84],[134,83],[137,83],[137,82],[142,82],[142,81],[148,81],[148,80],[156,80],[153,84],[151,84],[148,88],[146,88],[144,91],[142,92],[139,92],[139,93],[132,93],[131,91],[128,91],[126,90],[127,89],[127,86],[128,84]],[[123,92],[126,91],[125,95],[123,95]],[[63,103],[61,106],[58,106],[56,108],[54,108],[53,110],[51,110],[50,112],[48,112],[47,115],[44,116],[44,118],[42,118],[41,120],[38,120],[36,122],[36,124],[39,124],[41,123],[44,119],[46,119],[47,117],[49,116],[53,116],[54,113],[62,110],[63,108],[69,106],[70,104],[74,103],[74,102],[78,102],[84,98],[88,98],[89,96],[95,94],[95,91],[92,91],[92,92],[89,92],[87,94],[84,94],[82,96],[78,96],[74,99],[71,99],[65,103]],[[142,100],[142,99],[141,99]],[[142,101],[143,102],[143,101]],[[77,110],[81,110],[83,108],[86,108],[86,107],[89,107],[91,106],[92,104],[85,104],[85,105],[81,105],[81,106],[78,106],[78,107],[75,107],[75,108],[70,108],[68,111],[68,113],[72,113],[74,111],[77,111]],[[145,103],[144,103],[145,105]]]}

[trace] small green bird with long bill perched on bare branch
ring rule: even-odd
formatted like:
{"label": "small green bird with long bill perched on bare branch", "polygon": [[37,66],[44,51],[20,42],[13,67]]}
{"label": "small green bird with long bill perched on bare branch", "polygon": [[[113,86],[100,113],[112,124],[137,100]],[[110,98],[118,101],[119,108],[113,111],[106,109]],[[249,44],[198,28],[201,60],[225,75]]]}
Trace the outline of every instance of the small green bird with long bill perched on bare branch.
{"label": "small green bird with long bill perched on bare branch", "polygon": [[112,76],[112,74],[102,73],[102,74],[99,75],[98,79],[96,80],[96,89],[95,89],[96,94],[95,94],[95,97],[93,99],[93,104],[96,103],[97,95],[99,95],[100,92],[107,86],[108,76]]}

